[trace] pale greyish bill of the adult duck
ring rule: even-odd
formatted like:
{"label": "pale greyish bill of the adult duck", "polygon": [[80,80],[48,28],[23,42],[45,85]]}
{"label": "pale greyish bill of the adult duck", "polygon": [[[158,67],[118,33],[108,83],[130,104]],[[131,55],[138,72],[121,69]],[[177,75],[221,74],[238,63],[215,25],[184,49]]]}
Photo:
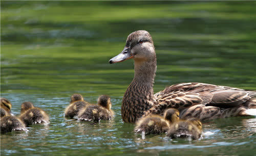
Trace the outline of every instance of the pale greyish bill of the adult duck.
{"label": "pale greyish bill of the adult duck", "polygon": [[134,58],[134,56],[131,53],[130,47],[124,47],[122,52],[119,55],[110,59],[109,63],[112,64],[112,63],[122,62],[132,58]]}

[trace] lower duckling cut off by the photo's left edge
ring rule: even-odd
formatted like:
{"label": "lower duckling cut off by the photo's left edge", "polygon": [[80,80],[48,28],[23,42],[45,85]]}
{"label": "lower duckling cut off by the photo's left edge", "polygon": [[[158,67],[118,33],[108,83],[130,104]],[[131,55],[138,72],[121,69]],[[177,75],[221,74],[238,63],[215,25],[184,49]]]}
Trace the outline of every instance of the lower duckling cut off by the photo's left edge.
{"label": "lower duckling cut off by the photo's left edge", "polygon": [[1,133],[7,133],[12,131],[28,131],[25,124],[15,116],[10,116],[3,108],[0,108],[1,119],[0,127]]}

